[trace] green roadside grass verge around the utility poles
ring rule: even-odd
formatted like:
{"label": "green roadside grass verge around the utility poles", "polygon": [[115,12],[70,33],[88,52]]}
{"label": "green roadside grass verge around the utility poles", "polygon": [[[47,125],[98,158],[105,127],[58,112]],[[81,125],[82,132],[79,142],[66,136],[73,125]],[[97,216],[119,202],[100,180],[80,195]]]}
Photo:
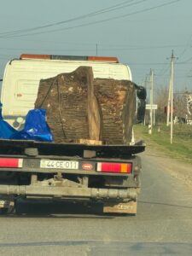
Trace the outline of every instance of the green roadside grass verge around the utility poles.
{"label": "green roadside grass verge around the utility poles", "polygon": [[[159,131],[158,131],[159,130]],[[192,164],[192,125],[173,125],[173,139],[170,143],[170,126],[156,125],[151,135],[147,125],[134,125],[136,140],[143,139],[147,147],[158,149],[172,158]]]}

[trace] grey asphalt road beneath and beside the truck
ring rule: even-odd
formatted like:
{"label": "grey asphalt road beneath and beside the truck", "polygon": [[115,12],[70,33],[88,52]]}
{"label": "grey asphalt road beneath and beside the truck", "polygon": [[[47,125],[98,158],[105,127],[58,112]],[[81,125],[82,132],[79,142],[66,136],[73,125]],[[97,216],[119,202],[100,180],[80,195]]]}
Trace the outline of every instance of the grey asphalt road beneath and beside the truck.
{"label": "grey asphalt road beneath and beside the truck", "polygon": [[192,189],[163,161],[143,154],[137,216],[102,216],[79,205],[21,205],[26,214],[0,218],[0,255],[192,255]]}

